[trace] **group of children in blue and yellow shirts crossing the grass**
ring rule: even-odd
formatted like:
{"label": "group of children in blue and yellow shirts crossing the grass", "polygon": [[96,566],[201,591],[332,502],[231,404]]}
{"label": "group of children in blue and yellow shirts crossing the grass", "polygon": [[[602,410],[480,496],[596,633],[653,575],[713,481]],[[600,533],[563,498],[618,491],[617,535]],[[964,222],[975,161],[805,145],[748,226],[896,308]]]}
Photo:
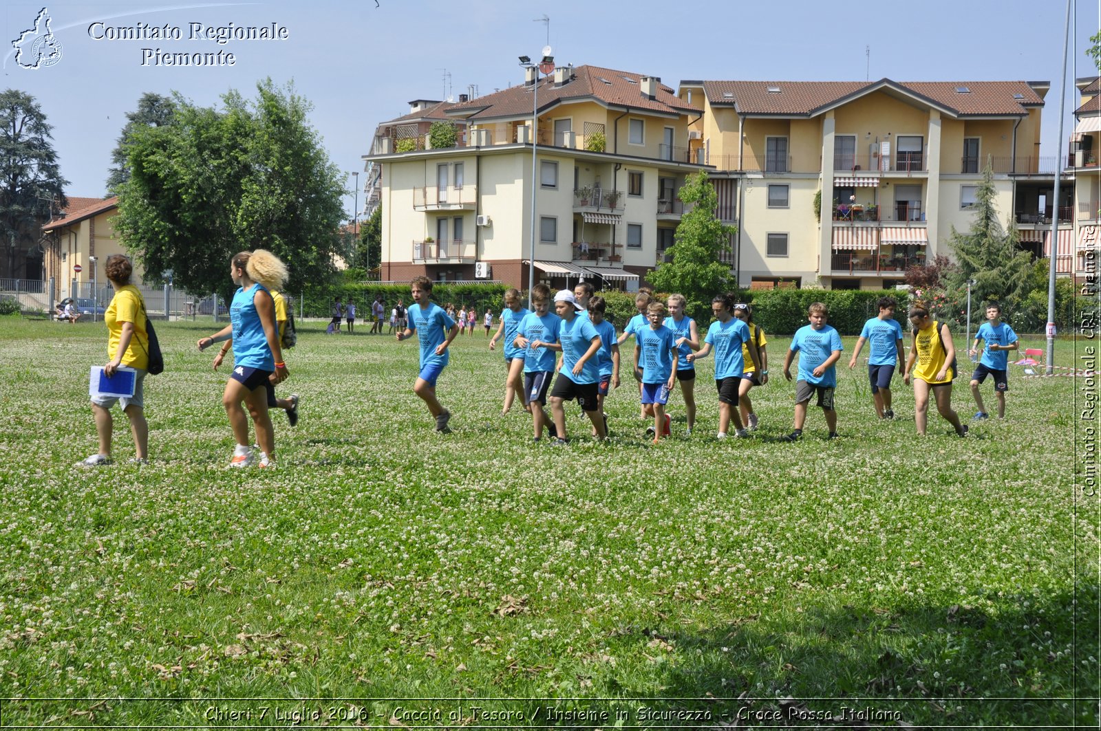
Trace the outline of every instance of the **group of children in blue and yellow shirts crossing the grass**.
{"label": "group of children in blue and yellow shirts crossing the grass", "polygon": [[[413,299],[408,327],[397,334],[397,339],[417,332],[421,339],[421,373],[414,392],[428,406],[436,418],[436,429],[446,432],[450,413],[439,405],[435,384],[447,363],[447,347],[465,329],[447,312],[432,304],[432,282],[416,277],[412,283]],[[615,328],[604,319],[607,303],[593,296],[592,285],[579,283],[573,291],[552,293],[545,284],[532,288],[532,309],[524,307],[515,288],[504,293],[504,309],[500,325],[489,341],[490,350],[503,340],[506,367],[504,403],[501,415],[508,414],[517,396],[532,416],[533,438],[543,439],[547,434],[555,445],[565,445],[565,402],[577,401],[591,422],[592,436],[603,440],[608,435],[608,415],[603,411],[608,393],[620,385],[620,347],[634,337],[631,371],[639,383],[641,415],[652,419],[646,433],[656,445],[672,434],[672,417],[666,412],[671,394],[680,385],[685,403],[685,435],[696,425],[696,368],[697,361],[715,357],[715,388],[719,401],[719,424],[716,437],[744,438],[760,424],[753,411],[750,391],[768,382],[767,339],[764,331],[753,324],[753,309],[746,303],[734,301],[733,295],[718,295],[711,302],[715,321],[700,341],[696,321],[685,314],[685,297],[669,295],[667,302],[654,301],[642,291],[635,298],[635,315],[617,337]],[[929,316],[923,303],[909,309],[913,326],[908,358],[903,352],[903,332],[894,318],[897,303],[892,297],[879,301],[879,315],[870,318],[857,340],[849,360],[855,368],[864,345],[869,345],[868,378],[872,401],[880,418],[894,418],[891,382],[895,370],[903,366],[903,381],[914,383],[914,410],[918,434],[928,425],[928,405],[931,395],[937,411],[948,421],[956,434],[966,436],[967,425],[951,408],[951,388],[957,374],[956,352],[948,326]],[[550,312],[552,305],[554,312]],[[415,314],[414,314],[415,313]],[[464,315],[460,310],[460,317]],[[802,438],[807,408],[811,399],[822,410],[829,439],[838,436],[835,389],[837,362],[844,349],[841,336],[828,324],[829,312],[825,304],[814,303],[807,312],[808,324],[796,331],[784,358],[784,378],[792,380],[792,366],[798,354],[795,383],[795,417],[792,432],[785,440]],[[981,359],[971,379],[971,392],[979,406],[975,419],[988,418],[979,386],[988,375],[993,377],[999,417],[1005,416],[1007,390],[1006,351],[1017,348],[1017,336],[1001,321],[1001,307],[986,308],[986,323],[979,328],[969,352]],[[473,331],[472,321],[467,320]],[[483,320],[489,335],[492,314],[487,310]],[[557,373],[557,377],[555,377]],[[546,407],[549,405],[550,413]]]}

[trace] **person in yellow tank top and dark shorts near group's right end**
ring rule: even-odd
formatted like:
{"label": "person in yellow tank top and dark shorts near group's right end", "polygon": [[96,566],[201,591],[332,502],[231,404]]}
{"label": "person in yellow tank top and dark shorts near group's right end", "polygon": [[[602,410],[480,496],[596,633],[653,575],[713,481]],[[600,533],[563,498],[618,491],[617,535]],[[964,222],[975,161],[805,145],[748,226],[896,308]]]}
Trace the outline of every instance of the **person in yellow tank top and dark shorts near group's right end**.
{"label": "person in yellow tank top and dark shorts near group's right end", "polygon": [[952,372],[952,363],[956,361],[952,334],[944,323],[934,327],[929,308],[919,302],[909,308],[909,321],[915,332],[902,380],[908,385],[911,374],[914,375],[914,422],[917,424],[917,433],[924,435],[928,425],[931,391],[940,416],[952,425],[957,435],[966,437],[967,426],[960,423],[959,414],[952,411],[952,378],[956,377]]}

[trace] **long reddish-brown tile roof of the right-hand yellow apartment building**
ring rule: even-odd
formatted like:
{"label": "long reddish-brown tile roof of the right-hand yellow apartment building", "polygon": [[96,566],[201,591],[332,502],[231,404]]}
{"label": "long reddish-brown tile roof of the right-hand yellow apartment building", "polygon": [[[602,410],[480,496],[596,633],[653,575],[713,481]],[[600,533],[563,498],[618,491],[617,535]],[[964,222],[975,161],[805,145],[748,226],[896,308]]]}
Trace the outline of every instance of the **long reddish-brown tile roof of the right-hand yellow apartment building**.
{"label": "long reddish-brown tile roof of the right-hand yellow apartment building", "polygon": [[[768,91],[768,88],[780,91]],[[956,89],[967,87],[969,92]],[[704,81],[715,106],[733,106],[744,114],[810,117],[827,107],[877,89],[912,94],[953,116],[1023,116],[1044,99],[1026,81]],[[1014,95],[1021,95],[1017,99]]]}

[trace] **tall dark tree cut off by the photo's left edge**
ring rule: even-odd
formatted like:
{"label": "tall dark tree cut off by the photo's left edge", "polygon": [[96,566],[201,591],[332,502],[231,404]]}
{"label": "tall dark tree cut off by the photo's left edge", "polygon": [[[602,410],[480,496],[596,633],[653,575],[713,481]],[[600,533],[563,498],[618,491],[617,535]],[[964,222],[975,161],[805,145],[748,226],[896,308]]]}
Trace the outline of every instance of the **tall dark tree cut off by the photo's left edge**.
{"label": "tall dark tree cut off by the photo's left edge", "polygon": [[66,205],[51,126],[34,97],[15,89],[0,94],[0,276],[37,279],[25,271],[42,225]]}

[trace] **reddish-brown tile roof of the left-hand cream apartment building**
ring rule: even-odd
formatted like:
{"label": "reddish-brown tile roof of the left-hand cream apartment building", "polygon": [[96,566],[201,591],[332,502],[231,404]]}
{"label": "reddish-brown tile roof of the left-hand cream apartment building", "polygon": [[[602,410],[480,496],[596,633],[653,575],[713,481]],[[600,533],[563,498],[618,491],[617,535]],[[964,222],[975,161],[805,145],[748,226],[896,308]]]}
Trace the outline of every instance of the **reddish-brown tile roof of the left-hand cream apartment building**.
{"label": "reddish-brown tile roof of the left-hand cream apartment building", "polygon": [[[591,99],[609,107],[630,107],[642,111],[664,114],[698,114],[699,110],[679,99],[673,89],[658,83],[654,99],[642,92],[645,74],[620,72],[600,66],[578,66],[573,77],[560,86],[554,76],[539,80],[539,111],[565,101]],[[472,121],[482,119],[522,117],[532,113],[530,87],[521,85],[502,89],[484,97],[455,105],[448,112],[456,117],[468,117]]]}

